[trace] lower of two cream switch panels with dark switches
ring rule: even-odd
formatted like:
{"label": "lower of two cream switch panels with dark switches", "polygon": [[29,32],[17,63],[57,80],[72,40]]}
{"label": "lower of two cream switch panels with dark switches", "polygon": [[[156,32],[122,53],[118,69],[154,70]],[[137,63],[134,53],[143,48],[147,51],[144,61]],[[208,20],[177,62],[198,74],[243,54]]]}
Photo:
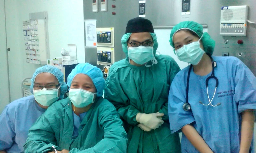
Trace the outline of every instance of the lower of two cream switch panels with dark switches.
{"label": "lower of two cream switch panels with dark switches", "polygon": [[97,64],[112,65],[115,62],[115,49],[108,47],[97,47]]}

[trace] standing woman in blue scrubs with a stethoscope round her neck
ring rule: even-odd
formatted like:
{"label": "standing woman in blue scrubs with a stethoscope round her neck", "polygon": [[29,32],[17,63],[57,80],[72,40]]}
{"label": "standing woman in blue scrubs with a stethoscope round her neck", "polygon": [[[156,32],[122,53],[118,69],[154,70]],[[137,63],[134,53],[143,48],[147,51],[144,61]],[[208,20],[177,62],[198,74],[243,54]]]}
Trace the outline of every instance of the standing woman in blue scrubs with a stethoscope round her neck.
{"label": "standing woman in blue scrubs with a stethoscope round her neck", "polygon": [[215,41],[196,22],[177,24],[170,43],[191,64],[173,79],[168,99],[171,132],[183,132],[182,152],[254,153],[254,74],[236,57],[211,56]]}

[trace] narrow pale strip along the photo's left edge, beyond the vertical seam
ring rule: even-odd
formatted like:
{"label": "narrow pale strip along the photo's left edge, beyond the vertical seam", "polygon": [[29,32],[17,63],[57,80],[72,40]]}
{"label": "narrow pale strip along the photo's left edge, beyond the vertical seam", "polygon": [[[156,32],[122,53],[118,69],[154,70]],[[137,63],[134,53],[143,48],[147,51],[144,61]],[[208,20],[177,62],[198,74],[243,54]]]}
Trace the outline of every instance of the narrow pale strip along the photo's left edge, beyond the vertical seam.
{"label": "narrow pale strip along the photo's left edge, beyond the vertical seam", "polygon": [[10,103],[4,1],[0,1],[0,114]]}

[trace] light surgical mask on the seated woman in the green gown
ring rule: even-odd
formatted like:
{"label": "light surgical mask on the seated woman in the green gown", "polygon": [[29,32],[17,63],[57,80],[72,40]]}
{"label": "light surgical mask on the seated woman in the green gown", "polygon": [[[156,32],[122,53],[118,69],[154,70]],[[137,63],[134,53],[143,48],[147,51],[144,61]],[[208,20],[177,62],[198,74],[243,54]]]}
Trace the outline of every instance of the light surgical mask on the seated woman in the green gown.
{"label": "light surgical mask on the seated woman in the green gown", "polygon": [[68,98],[77,108],[86,107],[94,103],[94,95],[97,95],[97,92],[92,93],[83,89],[70,89],[68,92]]}

